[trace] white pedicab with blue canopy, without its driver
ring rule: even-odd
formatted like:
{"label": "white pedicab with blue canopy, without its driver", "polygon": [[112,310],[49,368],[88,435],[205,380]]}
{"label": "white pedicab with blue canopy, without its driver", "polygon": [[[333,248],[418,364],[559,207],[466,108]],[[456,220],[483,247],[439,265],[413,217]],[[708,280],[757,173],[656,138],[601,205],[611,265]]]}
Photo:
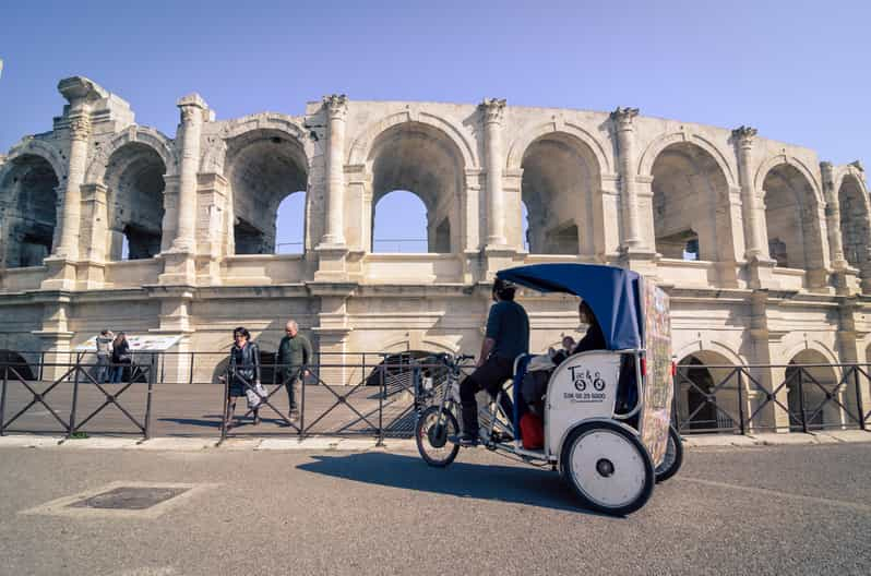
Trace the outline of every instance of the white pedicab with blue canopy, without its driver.
{"label": "white pedicab with blue canopy, without its driver", "polygon": [[[594,264],[520,266],[497,277],[539,292],[580,297],[601,326],[607,349],[569,356],[552,369],[541,405],[539,449],[524,447],[520,422],[529,405],[516,392],[536,357],[518,357],[513,381],[485,406],[479,403],[481,444],[529,464],[550,465],[585,507],[612,515],[637,511],[654,483],[673,476],[682,463],[680,437],[670,425],[668,296],[637,273]],[[420,455],[437,467],[450,465],[460,451],[449,437],[460,430],[462,367],[456,359],[448,363],[452,377],[431,394],[431,406],[416,427]],[[513,397],[513,413],[504,413],[502,394]]]}

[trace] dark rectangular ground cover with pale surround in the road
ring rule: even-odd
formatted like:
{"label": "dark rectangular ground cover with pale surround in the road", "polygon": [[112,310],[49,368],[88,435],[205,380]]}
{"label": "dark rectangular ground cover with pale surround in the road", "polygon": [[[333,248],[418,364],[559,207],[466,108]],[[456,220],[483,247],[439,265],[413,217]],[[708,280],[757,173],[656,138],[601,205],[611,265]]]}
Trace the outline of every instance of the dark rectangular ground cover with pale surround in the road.
{"label": "dark rectangular ground cover with pale surround in the road", "polygon": [[156,518],[217,484],[119,481],[47,502],[19,514]]}

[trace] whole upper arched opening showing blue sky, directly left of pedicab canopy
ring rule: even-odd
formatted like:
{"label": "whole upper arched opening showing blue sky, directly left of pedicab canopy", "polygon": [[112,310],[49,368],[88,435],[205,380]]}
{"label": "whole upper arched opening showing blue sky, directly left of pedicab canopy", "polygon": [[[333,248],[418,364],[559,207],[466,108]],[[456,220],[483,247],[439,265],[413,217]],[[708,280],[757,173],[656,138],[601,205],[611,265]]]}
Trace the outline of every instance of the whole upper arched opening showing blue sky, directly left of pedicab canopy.
{"label": "whole upper arched opening showing blue sky, directly left of pedicab canopy", "polygon": [[[462,229],[460,195],[463,188],[463,158],[448,135],[427,124],[404,122],[378,136],[372,145],[370,160],[373,206],[370,251],[394,251],[396,242],[384,242],[383,247],[377,247],[373,241],[403,238],[414,240],[406,244],[418,252],[449,253],[457,250]],[[410,221],[403,221],[419,213],[408,197],[409,193],[423,204],[426,219],[418,220],[416,226],[425,228],[410,228]],[[387,204],[381,204],[381,200],[386,200],[389,194],[390,204],[399,202],[410,206],[413,213],[392,214]],[[380,212],[385,212],[385,217]],[[425,230],[426,242],[422,241]]]}

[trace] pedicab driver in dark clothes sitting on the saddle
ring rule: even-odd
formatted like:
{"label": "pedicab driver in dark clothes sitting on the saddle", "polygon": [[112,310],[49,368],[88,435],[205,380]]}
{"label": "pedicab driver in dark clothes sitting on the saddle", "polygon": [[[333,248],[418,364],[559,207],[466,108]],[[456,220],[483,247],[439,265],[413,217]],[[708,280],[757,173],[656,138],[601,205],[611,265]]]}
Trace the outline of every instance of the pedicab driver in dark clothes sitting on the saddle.
{"label": "pedicab driver in dark clothes sitting on the saddle", "polygon": [[[496,279],[493,301],[487,316],[487,331],[481,344],[481,353],[475,372],[460,384],[460,400],[463,406],[463,433],[456,439],[461,446],[478,443],[478,403],[475,394],[486,389],[496,396],[514,370],[514,359],[529,353],[529,317],[521,304],[514,301],[514,286]],[[502,395],[502,410],[511,417],[511,400]]]}

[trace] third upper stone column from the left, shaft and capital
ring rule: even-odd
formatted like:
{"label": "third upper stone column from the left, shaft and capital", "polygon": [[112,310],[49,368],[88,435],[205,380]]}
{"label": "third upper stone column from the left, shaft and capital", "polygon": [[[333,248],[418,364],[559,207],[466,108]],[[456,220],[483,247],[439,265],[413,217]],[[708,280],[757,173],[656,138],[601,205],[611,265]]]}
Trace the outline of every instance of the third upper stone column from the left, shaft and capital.
{"label": "third upper stone column from the left, shaft and capital", "polygon": [[348,98],[344,94],[325,96],[326,111],[326,231],[321,240],[324,247],[345,245],[345,117]]}

